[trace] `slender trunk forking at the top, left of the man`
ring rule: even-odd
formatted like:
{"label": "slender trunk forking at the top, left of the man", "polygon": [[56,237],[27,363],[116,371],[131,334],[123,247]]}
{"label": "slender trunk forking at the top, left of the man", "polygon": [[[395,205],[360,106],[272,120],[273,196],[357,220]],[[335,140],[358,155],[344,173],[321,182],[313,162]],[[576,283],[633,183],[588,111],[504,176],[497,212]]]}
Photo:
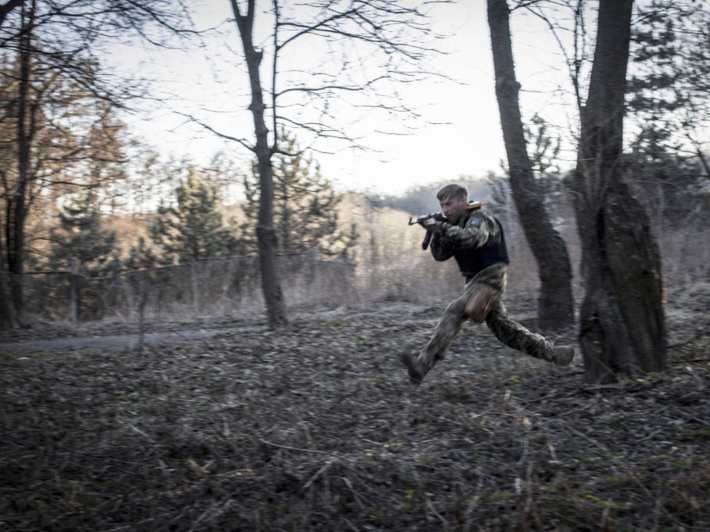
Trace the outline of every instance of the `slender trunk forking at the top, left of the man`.
{"label": "slender trunk forking at the top, left of the man", "polygon": [[[271,327],[278,327],[286,323],[286,309],[278,275],[278,255],[276,231],[273,226],[273,167],[271,156],[273,150],[268,145],[268,128],[264,118],[266,106],[263,101],[259,65],[261,65],[261,51],[254,48],[253,21],[254,0],[249,0],[247,12],[241,15],[236,0],[231,0],[232,10],[239,28],[241,43],[244,46],[246,65],[249,69],[249,82],[251,84],[251,105],[249,109],[253,116],[256,145],[253,148],[256,154],[259,172],[259,215],[256,235],[259,245],[259,267],[261,268],[261,287],[268,314],[268,323]],[[275,133],[275,132],[274,132]]]}

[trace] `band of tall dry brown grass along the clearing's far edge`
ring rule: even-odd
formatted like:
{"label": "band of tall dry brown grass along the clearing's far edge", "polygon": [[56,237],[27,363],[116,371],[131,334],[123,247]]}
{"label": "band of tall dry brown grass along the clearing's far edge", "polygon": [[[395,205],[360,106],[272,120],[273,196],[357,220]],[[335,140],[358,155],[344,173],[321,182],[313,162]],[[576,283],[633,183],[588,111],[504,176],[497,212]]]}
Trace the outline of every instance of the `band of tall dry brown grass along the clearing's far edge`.
{"label": "band of tall dry brown grass along the clearing's far edge", "polygon": [[[354,266],[320,260],[317,250],[280,257],[280,281],[289,308],[300,306],[368,306],[382,301],[427,304],[447,301],[461,289],[454,260],[435,262],[422,251],[424,232],[408,226],[404,211],[376,208],[364,196],[346,197],[340,213],[342,229],[354,223],[360,238]],[[525,240],[514,211],[498,213],[506,228],[510,254],[511,287],[537,297],[540,279],[537,261]],[[551,207],[550,216],[567,243],[573,265],[573,289],[581,297],[581,253],[571,199]],[[710,247],[698,245],[710,238],[710,229],[666,228],[658,232],[663,275],[671,287],[706,283],[710,272]],[[67,321],[70,309],[70,276],[67,272],[26,275],[25,323]],[[263,309],[256,255],[202,260],[185,265],[124,272],[116,277],[87,278],[82,282],[80,320],[188,321],[197,318],[252,316]]]}

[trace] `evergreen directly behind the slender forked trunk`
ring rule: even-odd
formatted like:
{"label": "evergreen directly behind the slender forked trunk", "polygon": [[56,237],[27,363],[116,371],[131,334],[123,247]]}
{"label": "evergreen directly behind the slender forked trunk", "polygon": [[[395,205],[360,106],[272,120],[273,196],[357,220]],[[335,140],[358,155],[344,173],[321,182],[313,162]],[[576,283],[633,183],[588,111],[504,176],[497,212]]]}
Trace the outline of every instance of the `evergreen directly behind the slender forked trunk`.
{"label": "evergreen directly behind the slender forked trunk", "polygon": [[[273,161],[273,221],[277,253],[302,253],[317,248],[325,257],[353,260],[351,249],[358,235],[354,226],[347,233],[339,231],[337,208],[342,194],[322,177],[320,167],[305,157],[293,135],[282,131],[285,149]],[[251,176],[244,178],[247,222],[243,228],[256,226],[259,208],[259,177],[256,164]],[[256,233],[244,231],[249,250],[256,250]]]}

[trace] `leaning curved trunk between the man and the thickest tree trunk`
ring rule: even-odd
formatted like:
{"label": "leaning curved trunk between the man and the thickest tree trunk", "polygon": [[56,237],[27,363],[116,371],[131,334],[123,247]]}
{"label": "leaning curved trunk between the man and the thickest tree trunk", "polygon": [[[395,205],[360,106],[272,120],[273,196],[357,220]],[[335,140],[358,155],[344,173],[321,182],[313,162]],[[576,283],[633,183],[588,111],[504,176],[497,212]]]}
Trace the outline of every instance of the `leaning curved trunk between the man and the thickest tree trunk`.
{"label": "leaning curved trunk between the man and the thickest tree trunk", "polygon": [[520,84],[515,80],[509,18],[506,0],[488,0],[496,96],[510,168],[510,188],[540,270],[540,326],[561,328],[574,323],[572,266],[567,245],[550,222],[532,173],[520,118]]}

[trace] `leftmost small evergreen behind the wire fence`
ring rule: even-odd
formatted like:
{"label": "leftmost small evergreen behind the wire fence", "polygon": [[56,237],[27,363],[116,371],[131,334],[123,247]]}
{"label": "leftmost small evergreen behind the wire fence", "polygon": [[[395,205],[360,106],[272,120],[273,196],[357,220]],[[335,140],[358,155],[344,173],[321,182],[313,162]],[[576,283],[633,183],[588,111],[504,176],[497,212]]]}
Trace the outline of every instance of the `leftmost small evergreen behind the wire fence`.
{"label": "leftmost small evergreen behind the wire fence", "polygon": [[69,267],[75,259],[89,275],[116,272],[116,231],[102,227],[101,213],[88,189],[68,197],[60,207],[60,229],[53,231],[50,267]]}

